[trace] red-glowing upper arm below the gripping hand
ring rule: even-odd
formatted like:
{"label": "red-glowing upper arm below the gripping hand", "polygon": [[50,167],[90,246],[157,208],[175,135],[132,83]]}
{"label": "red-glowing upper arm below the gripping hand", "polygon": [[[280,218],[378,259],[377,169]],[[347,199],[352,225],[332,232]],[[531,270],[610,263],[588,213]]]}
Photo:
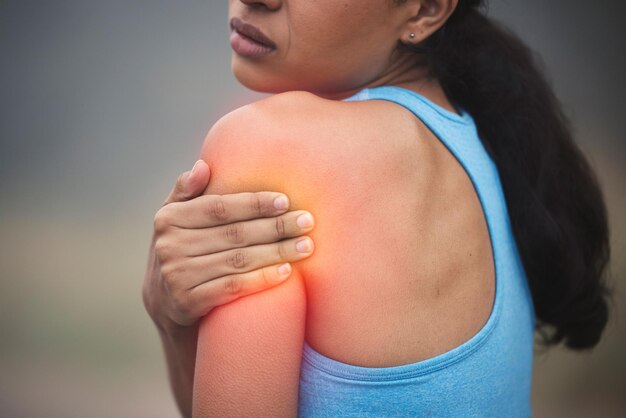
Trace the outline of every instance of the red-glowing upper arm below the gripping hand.
{"label": "red-glowing upper arm below the gripping hand", "polygon": [[294,269],[286,282],[202,319],[194,417],[297,415],[305,302]]}

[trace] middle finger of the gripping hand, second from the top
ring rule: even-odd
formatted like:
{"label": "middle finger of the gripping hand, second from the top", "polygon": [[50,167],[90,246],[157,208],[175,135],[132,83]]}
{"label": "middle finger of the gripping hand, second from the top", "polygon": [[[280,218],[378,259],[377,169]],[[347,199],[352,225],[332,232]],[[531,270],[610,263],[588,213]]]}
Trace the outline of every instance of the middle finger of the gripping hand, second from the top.
{"label": "middle finger of the gripping hand, second from the top", "polygon": [[212,228],[177,229],[172,233],[172,240],[185,243],[180,248],[185,256],[197,257],[297,237],[313,230],[314,223],[313,215],[297,210],[273,218],[233,222]]}

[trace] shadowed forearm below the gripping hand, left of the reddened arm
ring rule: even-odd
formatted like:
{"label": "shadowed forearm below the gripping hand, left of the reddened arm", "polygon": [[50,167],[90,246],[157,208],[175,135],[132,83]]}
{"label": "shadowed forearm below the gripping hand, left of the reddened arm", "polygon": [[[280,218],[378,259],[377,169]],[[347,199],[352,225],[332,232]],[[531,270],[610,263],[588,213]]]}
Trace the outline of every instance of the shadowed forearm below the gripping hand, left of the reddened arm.
{"label": "shadowed forearm below the gripping hand, left of the reddened arm", "polygon": [[183,417],[191,417],[191,400],[198,342],[198,326],[175,331],[159,328],[165,361],[178,409]]}

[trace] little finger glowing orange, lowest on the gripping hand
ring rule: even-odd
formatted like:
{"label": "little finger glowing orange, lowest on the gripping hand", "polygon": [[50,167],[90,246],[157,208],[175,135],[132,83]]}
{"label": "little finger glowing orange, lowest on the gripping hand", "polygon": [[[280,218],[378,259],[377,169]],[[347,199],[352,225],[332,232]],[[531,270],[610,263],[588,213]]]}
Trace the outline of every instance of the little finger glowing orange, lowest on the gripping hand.
{"label": "little finger glowing orange, lowest on the gripping hand", "polygon": [[191,302],[199,306],[198,316],[203,316],[215,306],[279,285],[287,280],[291,273],[292,267],[286,263],[220,277],[192,289]]}

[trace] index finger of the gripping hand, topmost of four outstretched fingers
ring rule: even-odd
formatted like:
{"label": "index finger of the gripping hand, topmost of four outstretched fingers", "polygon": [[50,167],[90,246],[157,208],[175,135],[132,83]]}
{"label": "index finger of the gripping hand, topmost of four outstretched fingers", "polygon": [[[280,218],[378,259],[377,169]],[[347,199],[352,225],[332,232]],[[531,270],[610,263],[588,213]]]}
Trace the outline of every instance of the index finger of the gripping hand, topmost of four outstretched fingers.
{"label": "index finger of the gripping hand, topmost of four outstretched fingers", "polygon": [[[281,201],[286,200],[281,206]],[[289,199],[277,192],[244,192],[226,195],[204,195],[188,202],[173,203],[172,225],[180,228],[210,228],[284,213]]]}

